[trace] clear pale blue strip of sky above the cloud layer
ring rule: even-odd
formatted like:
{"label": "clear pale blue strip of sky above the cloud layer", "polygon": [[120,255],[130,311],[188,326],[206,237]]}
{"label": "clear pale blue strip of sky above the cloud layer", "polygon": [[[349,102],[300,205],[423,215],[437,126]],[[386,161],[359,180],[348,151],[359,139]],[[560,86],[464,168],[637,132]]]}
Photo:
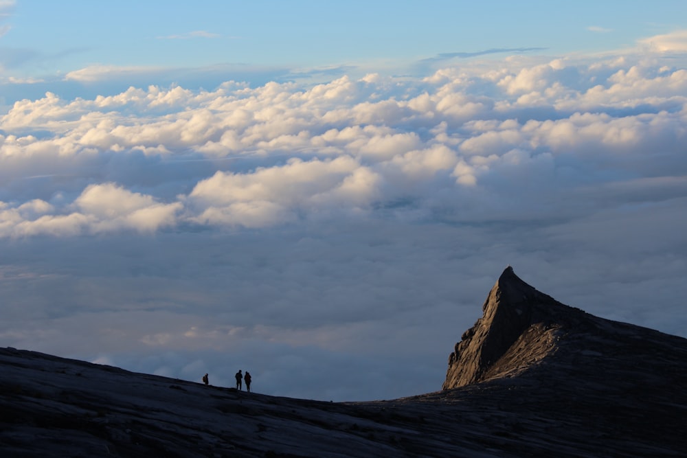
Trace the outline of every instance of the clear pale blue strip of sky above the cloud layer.
{"label": "clear pale blue strip of sky above the cloud layer", "polygon": [[[260,83],[274,71],[287,78],[289,71],[341,66],[403,73],[442,54],[527,49],[556,56],[633,47],[680,30],[687,14],[680,1],[3,3],[5,78],[49,81],[96,65],[167,69],[177,82],[180,69],[213,66]],[[201,81],[221,78],[196,76]]]}

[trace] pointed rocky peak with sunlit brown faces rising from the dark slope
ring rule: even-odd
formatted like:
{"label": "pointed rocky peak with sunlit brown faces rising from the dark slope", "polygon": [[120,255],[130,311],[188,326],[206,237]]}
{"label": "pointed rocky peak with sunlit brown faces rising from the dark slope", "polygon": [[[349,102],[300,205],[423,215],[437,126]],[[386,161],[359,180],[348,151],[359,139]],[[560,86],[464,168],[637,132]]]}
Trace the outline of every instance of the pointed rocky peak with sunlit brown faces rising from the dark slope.
{"label": "pointed rocky peak with sunlit brown faces rising from the dark slope", "polygon": [[464,332],[449,355],[443,389],[520,371],[556,347],[556,331],[588,315],[523,282],[508,266],[482,306],[484,315]]}

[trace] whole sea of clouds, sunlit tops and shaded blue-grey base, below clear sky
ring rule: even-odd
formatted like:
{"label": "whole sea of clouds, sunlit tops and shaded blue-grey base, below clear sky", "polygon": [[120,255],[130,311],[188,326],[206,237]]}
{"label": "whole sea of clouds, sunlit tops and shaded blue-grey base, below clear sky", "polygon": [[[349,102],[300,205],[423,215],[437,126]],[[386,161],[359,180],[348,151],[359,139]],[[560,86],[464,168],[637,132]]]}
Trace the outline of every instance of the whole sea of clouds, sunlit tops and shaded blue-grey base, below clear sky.
{"label": "whole sea of clouds, sunlit tops and shaded blue-grey base, below clear sky", "polygon": [[214,385],[249,370],[283,396],[409,396],[440,389],[508,264],[687,336],[684,35],[18,100],[0,116],[0,343]]}

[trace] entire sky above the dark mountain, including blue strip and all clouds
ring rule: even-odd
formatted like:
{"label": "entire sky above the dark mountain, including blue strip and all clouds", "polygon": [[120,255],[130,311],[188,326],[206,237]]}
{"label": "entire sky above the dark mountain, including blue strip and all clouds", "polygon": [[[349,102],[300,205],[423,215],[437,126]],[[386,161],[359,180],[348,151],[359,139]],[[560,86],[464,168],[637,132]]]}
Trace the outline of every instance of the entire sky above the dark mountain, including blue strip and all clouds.
{"label": "entire sky above the dark mountain, including blue strip and all clouds", "polygon": [[0,345],[438,391],[506,266],[687,337],[684,1],[0,0]]}

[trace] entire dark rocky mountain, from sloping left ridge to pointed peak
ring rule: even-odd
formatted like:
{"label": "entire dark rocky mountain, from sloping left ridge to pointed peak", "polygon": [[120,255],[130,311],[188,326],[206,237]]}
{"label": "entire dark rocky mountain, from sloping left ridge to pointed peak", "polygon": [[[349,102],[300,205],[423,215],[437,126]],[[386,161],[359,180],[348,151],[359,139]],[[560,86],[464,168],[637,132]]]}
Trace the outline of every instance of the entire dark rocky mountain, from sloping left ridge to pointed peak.
{"label": "entire dark rocky mountain, from sloping left ridge to pointed peak", "polygon": [[687,339],[506,268],[441,391],[318,402],[0,349],[2,457],[684,457]]}

